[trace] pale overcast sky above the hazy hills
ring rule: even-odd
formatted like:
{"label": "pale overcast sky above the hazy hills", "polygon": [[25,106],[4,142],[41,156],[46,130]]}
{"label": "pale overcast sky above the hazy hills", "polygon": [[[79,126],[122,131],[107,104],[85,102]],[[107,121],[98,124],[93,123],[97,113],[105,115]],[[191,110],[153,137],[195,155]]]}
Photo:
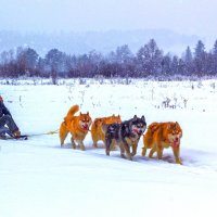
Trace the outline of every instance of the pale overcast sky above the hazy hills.
{"label": "pale overcast sky above the hazy hills", "polygon": [[167,28],[217,38],[217,0],[0,0],[0,30]]}

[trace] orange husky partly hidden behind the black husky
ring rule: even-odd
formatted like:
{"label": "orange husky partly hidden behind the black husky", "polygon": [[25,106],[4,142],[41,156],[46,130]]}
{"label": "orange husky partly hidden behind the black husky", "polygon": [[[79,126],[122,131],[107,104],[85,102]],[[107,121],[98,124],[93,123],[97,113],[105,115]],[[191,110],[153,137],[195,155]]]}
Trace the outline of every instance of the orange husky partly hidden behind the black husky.
{"label": "orange husky partly hidden behind the black husky", "polygon": [[99,117],[95,118],[92,126],[91,126],[91,136],[93,141],[93,146],[98,148],[98,141],[102,140],[105,143],[105,135],[102,131],[102,125],[104,124],[120,124],[122,119],[120,116],[108,116],[108,117]]}

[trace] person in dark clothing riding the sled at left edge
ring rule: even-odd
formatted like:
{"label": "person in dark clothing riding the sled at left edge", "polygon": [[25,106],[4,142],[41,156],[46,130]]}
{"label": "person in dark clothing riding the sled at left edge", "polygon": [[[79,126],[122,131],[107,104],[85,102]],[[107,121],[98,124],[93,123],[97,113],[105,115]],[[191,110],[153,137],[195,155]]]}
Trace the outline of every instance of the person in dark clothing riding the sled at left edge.
{"label": "person in dark clothing riding the sled at left edge", "polygon": [[5,135],[18,139],[21,137],[21,131],[0,95],[0,138],[5,138]]}

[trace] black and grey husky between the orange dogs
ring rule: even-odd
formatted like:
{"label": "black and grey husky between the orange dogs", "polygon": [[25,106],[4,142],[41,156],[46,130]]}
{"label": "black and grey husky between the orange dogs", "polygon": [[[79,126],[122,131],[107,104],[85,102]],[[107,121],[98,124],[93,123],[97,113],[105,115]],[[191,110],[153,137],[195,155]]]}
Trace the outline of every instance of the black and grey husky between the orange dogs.
{"label": "black and grey husky between the orange dogs", "polygon": [[[140,137],[143,135],[146,129],[146,123],[144,116],[141,118],[133,116],[133,118],[123,122],[122,124],[111,124],[103,125],[102,130],[105,133],[105,153],[110,155],[112,150],[112,144],[119,145],[120,156],[132,161],[132,156],[137,154],[137,146]],[[130,146],[132,152],[130,152]]]}

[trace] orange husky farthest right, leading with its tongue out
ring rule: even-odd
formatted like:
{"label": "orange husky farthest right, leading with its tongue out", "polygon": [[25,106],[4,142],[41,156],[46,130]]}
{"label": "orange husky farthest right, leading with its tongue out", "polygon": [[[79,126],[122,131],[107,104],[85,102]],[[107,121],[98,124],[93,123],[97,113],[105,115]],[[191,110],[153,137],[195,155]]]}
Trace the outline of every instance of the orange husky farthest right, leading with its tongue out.
{"label": "orange husky farthest right, leading with its tongue out", "polygon": [[179,156],[181,137],[182,129],[177,122],[152,123],[143,136],[142,156],[146,154],[146,149],[151,149],[149,157],[156,152],[158,159],[162,159],[164,148],[171,146],[176,163],[181,164]]}

